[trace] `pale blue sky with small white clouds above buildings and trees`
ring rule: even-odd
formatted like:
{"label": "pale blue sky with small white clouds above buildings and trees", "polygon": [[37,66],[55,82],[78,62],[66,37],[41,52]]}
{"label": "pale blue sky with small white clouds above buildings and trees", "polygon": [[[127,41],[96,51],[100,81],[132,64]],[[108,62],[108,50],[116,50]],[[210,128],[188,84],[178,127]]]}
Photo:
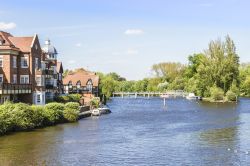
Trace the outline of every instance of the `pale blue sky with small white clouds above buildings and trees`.
{"label": "pale blue sky with small white clouds above buildings and trees", "polygon": [[250,61],[248,0],[0,0],[0,29],[50,38],[64,68],[151,76],[229,34]]}

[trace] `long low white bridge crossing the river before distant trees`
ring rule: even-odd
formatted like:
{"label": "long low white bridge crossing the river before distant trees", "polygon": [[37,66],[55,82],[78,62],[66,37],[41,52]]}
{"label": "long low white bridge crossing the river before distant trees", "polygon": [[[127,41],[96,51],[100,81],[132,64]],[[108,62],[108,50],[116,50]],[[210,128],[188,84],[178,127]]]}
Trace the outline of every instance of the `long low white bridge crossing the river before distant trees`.
{"label": "long low white bridge crossing the river before distant trees", "polygon": [[186,97],[187,92],[183,90],[172,90],[166,92],[114,92],[113,97]]}

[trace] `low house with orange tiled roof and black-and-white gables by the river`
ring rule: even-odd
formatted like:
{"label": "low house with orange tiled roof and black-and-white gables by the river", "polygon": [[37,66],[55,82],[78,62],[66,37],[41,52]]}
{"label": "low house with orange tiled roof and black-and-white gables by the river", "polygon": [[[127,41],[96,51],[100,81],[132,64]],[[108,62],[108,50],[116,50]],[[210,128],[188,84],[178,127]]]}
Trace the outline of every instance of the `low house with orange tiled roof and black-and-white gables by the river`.
{"label": "low house with orange tiled roof and black-and-white gables by the river", "polygon": [[78,69],[63,79],[66,94],[82,94],[97,97],[99,95],[99,76],[96,73]]}

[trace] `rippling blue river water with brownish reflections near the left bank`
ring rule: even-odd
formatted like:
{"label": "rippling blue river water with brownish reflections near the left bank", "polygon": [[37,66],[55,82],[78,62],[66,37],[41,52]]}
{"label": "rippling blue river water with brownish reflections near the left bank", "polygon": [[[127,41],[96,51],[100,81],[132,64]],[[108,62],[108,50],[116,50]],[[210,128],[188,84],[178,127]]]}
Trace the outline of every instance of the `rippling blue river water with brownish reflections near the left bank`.
{"label": "rippling blue river water with brownish reflections near the left bank", "polygon": [[0,137],[0,165],[250,165],[250,99],[108,106],[112,114]]}

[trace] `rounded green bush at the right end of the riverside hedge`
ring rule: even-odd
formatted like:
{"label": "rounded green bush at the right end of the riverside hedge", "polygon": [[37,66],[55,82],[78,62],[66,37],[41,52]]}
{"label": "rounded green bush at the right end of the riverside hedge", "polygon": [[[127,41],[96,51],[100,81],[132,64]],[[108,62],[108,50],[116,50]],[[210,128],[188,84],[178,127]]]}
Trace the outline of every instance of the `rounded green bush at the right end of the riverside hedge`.
{"label": "rounded green bush at the right end of the riverside hedge", "polygon": [[64,119],[68,122],[75,122],[79,117],[79,103],[69,102],[65,104],[65,109],[63,111]]}

